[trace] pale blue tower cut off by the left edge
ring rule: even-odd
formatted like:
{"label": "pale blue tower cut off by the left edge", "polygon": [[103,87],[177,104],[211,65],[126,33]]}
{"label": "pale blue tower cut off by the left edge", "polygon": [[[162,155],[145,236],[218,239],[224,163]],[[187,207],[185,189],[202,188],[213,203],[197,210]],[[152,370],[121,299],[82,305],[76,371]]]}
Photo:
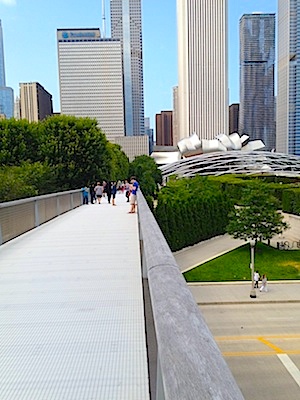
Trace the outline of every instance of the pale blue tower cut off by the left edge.
{"label": "pale blue tower cut off by the left edge", "polygon": [[14,91],[6,86],[5,66],[4,66],[4,47],[3,32],[0,20],[0,114],[5,118],[14,116]]}

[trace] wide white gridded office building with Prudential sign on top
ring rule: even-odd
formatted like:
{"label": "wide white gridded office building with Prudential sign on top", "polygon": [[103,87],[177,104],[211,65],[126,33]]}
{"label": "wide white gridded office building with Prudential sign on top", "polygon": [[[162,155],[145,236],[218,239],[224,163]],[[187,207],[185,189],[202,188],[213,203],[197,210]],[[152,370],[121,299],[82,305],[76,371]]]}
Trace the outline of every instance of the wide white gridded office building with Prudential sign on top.
{"label": "wide white gridded office building with Prudential sign on top", "polygon": [[108,139],[124,136],[121,42],[99,29],[58,29],[61,113],[90,117]]}

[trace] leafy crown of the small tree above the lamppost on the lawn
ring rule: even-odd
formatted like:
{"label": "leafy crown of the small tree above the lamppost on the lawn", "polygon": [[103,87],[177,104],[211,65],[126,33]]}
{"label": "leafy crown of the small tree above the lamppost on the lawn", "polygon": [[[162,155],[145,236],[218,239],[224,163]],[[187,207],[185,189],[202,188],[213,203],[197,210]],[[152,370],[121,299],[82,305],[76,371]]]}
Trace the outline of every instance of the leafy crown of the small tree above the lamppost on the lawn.
{"label": "leafy crown of the small tree above the lamppost on the lawn", "polygon": [[267,185],[249,184],[242,192],[241,204],[230,213],[227,225],[227,232],[235,239],[267,240],[288,228]]}

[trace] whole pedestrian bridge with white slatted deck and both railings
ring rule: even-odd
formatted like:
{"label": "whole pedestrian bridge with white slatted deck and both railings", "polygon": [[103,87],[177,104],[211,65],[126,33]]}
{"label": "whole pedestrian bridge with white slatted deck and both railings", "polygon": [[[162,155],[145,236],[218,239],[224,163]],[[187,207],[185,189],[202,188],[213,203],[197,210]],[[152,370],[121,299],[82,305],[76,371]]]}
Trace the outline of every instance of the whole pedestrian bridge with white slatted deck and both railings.
{"label": "whole pedestrian bridge with white slatted deck and both railings", "polygon": [[81,203],[0,204],[0,399],[243,399],[142,194]]}

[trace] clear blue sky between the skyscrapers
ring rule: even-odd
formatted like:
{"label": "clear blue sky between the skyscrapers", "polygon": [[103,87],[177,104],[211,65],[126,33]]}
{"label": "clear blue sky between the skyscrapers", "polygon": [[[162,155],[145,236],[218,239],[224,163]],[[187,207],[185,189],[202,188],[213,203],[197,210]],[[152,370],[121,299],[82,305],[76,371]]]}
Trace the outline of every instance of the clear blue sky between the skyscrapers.
{"label": "clear blue sky between the skyscrapers", "polygon": [[[19,82],[39,82],[53,95],[54,111],[60,110],[56,29],[101,27],[101,5],[102,0],[0,0],[6,84],[15,95]],[[230,103],[239,101],[239,19],[255,11],[277,12],[277,0],[229,0]],[[155,114],[172,109],[178,82],[176,0],[142,0],[142,23],[145,116],[154,128]]]}

